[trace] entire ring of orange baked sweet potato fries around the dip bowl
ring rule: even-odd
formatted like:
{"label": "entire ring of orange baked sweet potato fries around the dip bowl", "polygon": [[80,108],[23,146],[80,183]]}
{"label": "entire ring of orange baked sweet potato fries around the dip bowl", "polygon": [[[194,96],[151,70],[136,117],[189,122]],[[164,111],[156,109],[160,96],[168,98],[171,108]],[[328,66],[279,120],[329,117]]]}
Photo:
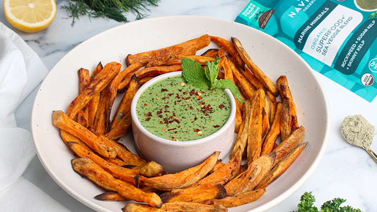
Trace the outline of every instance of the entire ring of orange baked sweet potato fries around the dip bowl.
{"label": "entire ring of orange baked sweet potato fries around the dip bowl", "polygon": [[[197,55],[211,42],[218,48]],[[180,71],[182,58],[205,65],[216,57],[222,70],[218,78],[235,82],[245,100],[236,100],[237,135],[229,162],[220,162],[220,152],[214,151],[195,167],[168,173],[117,141],[131,129],[130,103],[143,83]],[[287,77],[275,84],[236,38],[203,35],[125,59],[123,70],[116,62],[99,63],[92,72],[80,68],[77,97],[67,112],[52,112],[53,124],[76,156],[71,160],[73,170],[108,190],[94,194],[99,201],[139,202],[125,203],[124,212],[227,211],[268,192],[266,187],[307,146]],[[117,106],[116,98],[121,99]]]}

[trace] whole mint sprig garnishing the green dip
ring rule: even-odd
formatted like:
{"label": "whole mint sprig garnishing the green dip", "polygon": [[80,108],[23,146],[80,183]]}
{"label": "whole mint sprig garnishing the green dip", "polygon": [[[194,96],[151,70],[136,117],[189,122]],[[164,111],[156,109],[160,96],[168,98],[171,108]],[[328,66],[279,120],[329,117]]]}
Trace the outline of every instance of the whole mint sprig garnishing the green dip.
{"label": "whole mint sprig garnishing the green dip", "polygon": [[220,58],[216,57],[215,61],[206,61],[206,68],[203,68],[198,62],[183,58],[181,59],[182,64],[182,76],[185,80],[200,89],[226,89],[228,88],[234,97],[238,99],[240,103],[244,101],[241,98],[238,87],[230,80],[221,79],[216,80],[219,67],[218,64]]}

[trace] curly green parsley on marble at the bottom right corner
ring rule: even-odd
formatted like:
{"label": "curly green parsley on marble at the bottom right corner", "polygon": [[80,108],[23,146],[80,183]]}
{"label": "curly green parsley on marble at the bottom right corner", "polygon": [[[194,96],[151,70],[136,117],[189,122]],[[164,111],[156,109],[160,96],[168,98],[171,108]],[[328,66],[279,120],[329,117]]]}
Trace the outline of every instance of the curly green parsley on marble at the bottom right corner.
{"label": "curly green parsley on marble at the bottom right corner", "polygon": [[323,203],[321,211],[318,211],[317,207],[314,207],[315,198],[310,192],[305,192],[301,198],[300,203],[297,205],[297,212],[361,212],[360,209],[353,209],[350,206],[340,207],[340,205],[346,202],[345,199],[334,198],[331,201]]}

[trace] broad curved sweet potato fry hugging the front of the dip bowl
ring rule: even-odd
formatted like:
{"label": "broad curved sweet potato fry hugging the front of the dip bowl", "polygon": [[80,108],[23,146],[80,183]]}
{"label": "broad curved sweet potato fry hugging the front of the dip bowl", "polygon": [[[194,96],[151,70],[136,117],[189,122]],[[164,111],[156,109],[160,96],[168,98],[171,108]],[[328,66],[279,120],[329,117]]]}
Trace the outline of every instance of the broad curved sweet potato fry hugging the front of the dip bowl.
{"label": "broad curved sweet potato fry hugging the front of the dip bowl", "polygon": [[188,187],[203,178],[210,170],[212,170],[219,154],[219,151],[215,151],[203,163],[189,168],[188,170],[183,170],[174,174],[165,174],[159,177],[141,178],[141,182],[146,186],[162,191],[171,191],[173,189]]}

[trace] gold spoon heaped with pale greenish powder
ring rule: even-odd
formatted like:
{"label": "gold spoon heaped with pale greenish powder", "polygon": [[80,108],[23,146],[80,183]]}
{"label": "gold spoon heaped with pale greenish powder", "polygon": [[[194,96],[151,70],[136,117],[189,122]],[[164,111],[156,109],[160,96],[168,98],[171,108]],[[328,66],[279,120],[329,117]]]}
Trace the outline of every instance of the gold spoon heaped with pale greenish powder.
{"label": "gold spoon heaped with pale greenish powder", "polygon": [[[377,155],[370,148],[373,141],[375,127],[361,115],[347,116],[340,127],[343,138],[353,146],[365,149],[377,162]],[[360,140],[360,138],[365,138]]]}

